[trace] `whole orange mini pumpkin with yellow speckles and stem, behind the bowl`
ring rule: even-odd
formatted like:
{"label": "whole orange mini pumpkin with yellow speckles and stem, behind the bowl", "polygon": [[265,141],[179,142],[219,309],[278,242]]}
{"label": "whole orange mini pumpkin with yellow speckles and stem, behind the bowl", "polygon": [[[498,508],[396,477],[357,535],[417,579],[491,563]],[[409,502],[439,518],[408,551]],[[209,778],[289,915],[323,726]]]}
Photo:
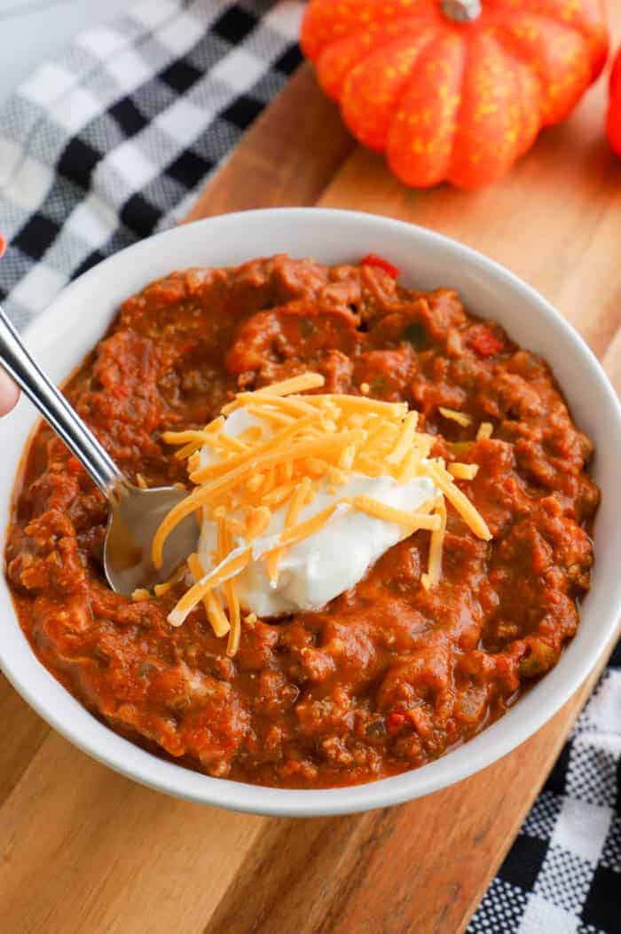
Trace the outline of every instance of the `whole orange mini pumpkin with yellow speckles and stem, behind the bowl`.
{"label": "whole orange mini pumpkin with yellow speckles and stem, behind the bowl", "polygon": [[302,47],[407,185],[504,175],[600,74],[600,0],[310,0]]}

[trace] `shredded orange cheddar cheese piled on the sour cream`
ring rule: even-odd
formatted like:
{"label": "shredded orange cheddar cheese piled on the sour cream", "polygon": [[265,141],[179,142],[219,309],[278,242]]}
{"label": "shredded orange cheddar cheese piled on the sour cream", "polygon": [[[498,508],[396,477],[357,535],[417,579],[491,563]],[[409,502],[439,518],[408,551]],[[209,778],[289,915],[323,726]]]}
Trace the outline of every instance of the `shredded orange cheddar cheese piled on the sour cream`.
{"label": "shredded orange cheddar cheese piled on the sour cream", "polygon": [[[201,602],[219,636],[228,635],[227,654],[239,646],[242,623],[256,621],[255,614],[242,616],[235,579],[248,564],[263,560],[272,587],[278,586],[279,568],[289,548],[322,530],[348,510],[402,527],[402,537],[415,531],[430,532],[428,572],[423,587],[435,587],[442,574],[442,552],[446,529],[446,501],[477,537],[491,538],[485,519],[455,484],[471,480],[477,464],[449,463],[430,457],[434,438],[418,430],[418,414],[405,403],[386,403],[361,396],[313,392],[324,379],[318,374],[293,376],[255,392],[244,391],[222,408],[222,413],[204,429],[165,432],[163,440],[188,458],[191,483],[188,497],[166,516],[153,541],[153,561],[162,565],[162,549],[176,525],[195,510],[203,522],[215,523],[217,546],[214,567],[205,570],[197,554],[188,559],[193,586],[176,603],[168,619],[180,626]],[[364,393],[366,385],[360,391]],[[233,436],[224,429],[226,419],[245,408],[258,422]],[[463,427],[472,418],[440,408],[447,418]],[[481,436],[486,423],[477,434]],[[491,426],[489,426],[491,428]],[[205,460],[201,450],[209,451]],[[429,477],[437,498],[412,512],[396,509],[372,496],[339,495],[352,474],[388,476],[397,484],[416,477]],[[328,490],[333,502],[310,518],[305,506],[319,490]],[[434,494],[435,495],[435,494]],[[282,509],[282,531],[271,533],[275,511]],[[261,538],[263,533],[268,538]],[[204,559],[205,560],[205,559]],[[162,596],[163,587],[156,588]]]}

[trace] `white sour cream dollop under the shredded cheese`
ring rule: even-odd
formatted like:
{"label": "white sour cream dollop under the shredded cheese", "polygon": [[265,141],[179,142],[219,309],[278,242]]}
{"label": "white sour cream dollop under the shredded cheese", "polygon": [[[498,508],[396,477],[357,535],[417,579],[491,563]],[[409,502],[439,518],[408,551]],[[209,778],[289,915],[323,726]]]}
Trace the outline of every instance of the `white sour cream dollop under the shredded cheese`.
{"label": "white sour cream dollop under the shredded cheese", "polygon": [[[235,436],[261,424],[245,408],[235,410],[227,419],[224,431]],[[213,463],[211,448],[201,451],[201,465]],[[420,476],[399,484],[390,476],[370,477],[350,474],[345,484],[334,487],[323,481],[318,493],[304,506],[298,518],[304,522],[343,499],[366,495],[387,506],[416,512],[416,509],[439,495],[428,477]],[[276,509],[261,537],[253,540],[253,559],[235,578],[235,587],[244,610],[257,616],[285,616],[301,610],[318,610],[354,587],[374,562],[406,534],[401,525],[367,516],[342,503],[321,529],[296,545],[289,546],[280,560],[278,580],[271,582],[264,555],[277,545],[285,528],[288,507]],[[218,542],[216,523],[202,524],[198,553],[205,572],[214,567]],[[242,538],[235,540],[240,549],[247,547]]]}

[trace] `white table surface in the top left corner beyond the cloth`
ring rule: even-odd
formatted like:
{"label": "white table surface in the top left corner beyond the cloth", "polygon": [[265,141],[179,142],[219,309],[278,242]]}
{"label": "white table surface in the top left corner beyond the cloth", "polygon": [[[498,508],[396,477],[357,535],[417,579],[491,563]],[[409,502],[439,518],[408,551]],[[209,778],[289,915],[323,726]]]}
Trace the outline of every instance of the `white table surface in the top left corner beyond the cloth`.
{"label": "white table surface in the top left corner beyond the cloth", "polygon": [[133,0],[0,0],[0,100],[73,35]]}

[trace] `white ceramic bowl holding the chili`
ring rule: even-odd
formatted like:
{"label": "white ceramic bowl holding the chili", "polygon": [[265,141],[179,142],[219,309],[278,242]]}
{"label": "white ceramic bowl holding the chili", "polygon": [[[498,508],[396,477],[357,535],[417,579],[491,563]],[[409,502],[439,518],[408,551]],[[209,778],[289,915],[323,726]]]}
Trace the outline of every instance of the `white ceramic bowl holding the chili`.
{"label": "white ceramic bowl holding the chili", "polygon": [[[0,664],[23,698],[72,743],[112,769],[193,801],[258,814],[346,814],[429,794],[472,775],[543,726],[580,686],[614,632],[621,605],[621,410],[584,341],[541,295],[496,262],[452,240],[394,220],[346,211],[282,209],[199,221],[123,250],[65,289],[26,333],[35,357],[60,381],[78,365],[120,302],[173,269],[234,265],[289,252],[320,262],[356,262],[369,252],[402,269],[409,286],[459,290],[473,312],[496,318],[523,347],[549,361],[577,424],[594,440],[594,473],[604,506],[595,529],[593,586],[582,605],[575,639],[554,671],[509,713],[470,743],[416,771],[369,785],[295,791],[209,778],[162,761],[121,739],[75,701],[37,661],[18,625],[7,584],[0,584]],[[6,525],[21,451],[35,422],[21,400],[0,421],[0,516]],[[4,553],[5,536],[0,547]]]}

